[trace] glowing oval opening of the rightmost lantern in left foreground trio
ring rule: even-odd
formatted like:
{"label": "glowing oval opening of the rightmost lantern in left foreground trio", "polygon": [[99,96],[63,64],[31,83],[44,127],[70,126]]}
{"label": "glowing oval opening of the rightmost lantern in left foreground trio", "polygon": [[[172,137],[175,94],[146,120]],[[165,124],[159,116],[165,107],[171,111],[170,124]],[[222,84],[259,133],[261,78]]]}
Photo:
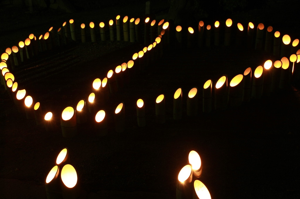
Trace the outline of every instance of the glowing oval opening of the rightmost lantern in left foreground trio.
{"label": "glowing oval opening of the rightmost lantern in left foreground trio", "polygon": [[68,188],[73,188],[77,184],[77,173],[72,165],[66,164],[61,169],[61,180]]}

